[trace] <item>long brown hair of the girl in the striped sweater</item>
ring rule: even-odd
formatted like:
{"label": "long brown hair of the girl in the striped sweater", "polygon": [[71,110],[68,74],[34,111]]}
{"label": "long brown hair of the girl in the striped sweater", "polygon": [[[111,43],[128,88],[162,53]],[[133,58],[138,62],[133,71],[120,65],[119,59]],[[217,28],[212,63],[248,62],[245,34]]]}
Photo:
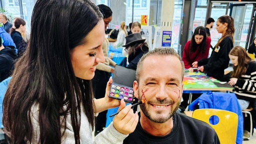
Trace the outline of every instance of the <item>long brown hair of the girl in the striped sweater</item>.
{"label": "long brown hair of the girl in the striped sweater", "polygon": [[233,72],[231,74],[232,77],[239,78],[242,74],[245,74],[248,63],[251,61],[251,58],[247,54],[246,50],[241,46],[234,46],[230,52],[229,55],[238,56],[238,63],[236,66],[233,65]]}

